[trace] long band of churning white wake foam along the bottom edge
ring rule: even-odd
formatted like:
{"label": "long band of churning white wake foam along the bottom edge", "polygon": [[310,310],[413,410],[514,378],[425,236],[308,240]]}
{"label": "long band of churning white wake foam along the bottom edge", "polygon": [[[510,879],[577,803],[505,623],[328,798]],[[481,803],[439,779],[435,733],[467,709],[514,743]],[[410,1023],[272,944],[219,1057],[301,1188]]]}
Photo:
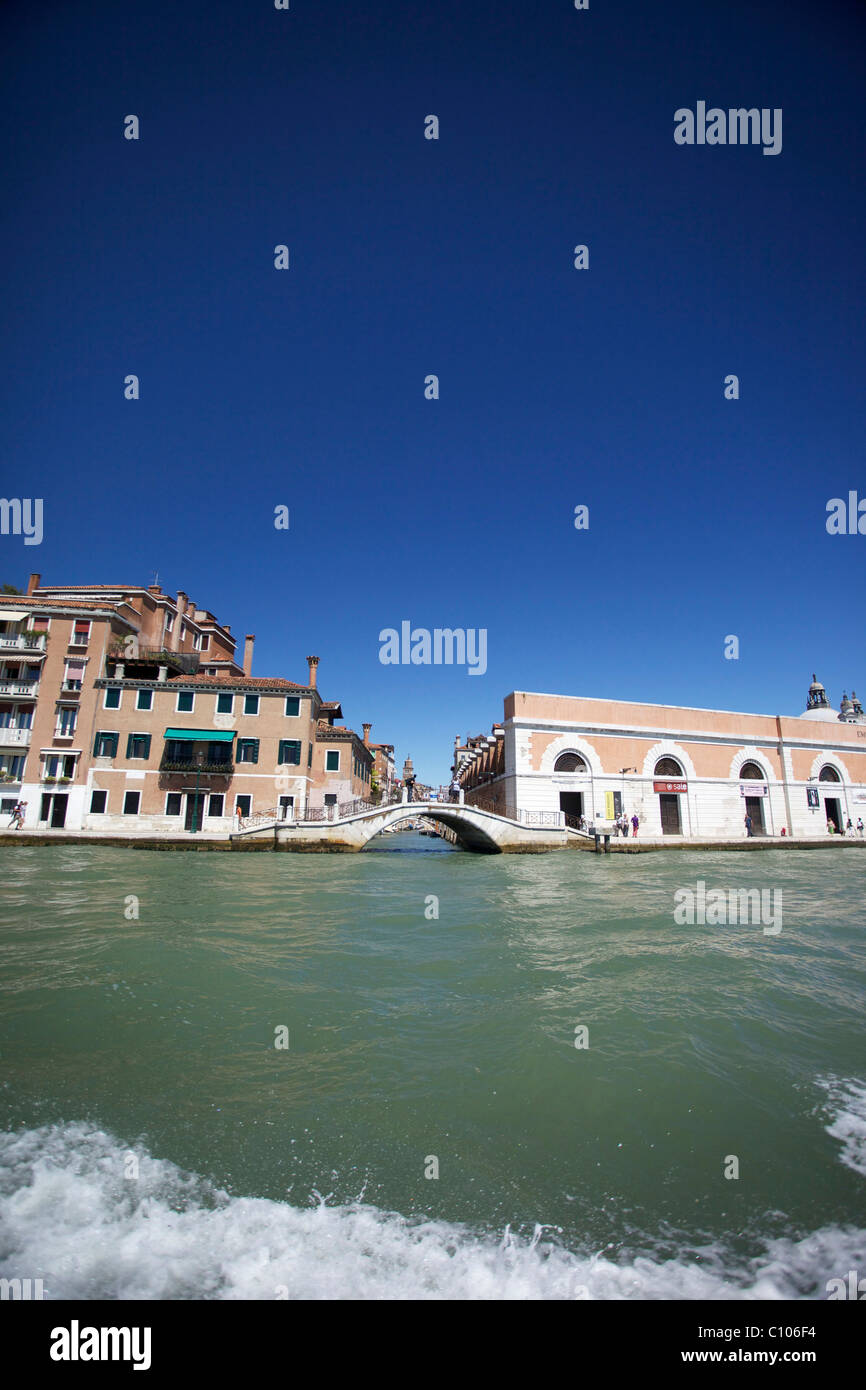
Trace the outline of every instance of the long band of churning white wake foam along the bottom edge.
{"label": "long band of churning white wake foam along the bottom edge", "polygon": [[49,1298],[824,1298],[865,1262],[865,1232],[826,1227],[749,1262],[713,1244],[616,1264],[541,1226],[495,1237],[360,1202],[231,1197],[90,1125],[0,1136],[0,1275],[43,1279]]}

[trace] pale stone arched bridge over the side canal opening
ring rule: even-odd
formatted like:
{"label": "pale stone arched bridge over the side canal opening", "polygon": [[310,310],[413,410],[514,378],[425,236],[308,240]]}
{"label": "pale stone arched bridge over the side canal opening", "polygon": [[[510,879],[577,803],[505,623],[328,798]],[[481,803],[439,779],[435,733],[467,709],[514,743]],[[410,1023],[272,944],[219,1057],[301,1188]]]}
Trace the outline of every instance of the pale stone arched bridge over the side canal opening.
{"label": "pale stone arched bridge over the side canal opening", "polygon": [[[234,849],[286,849],[300,852],[354,852],[382,830],[402,820],[438,820],[453,830],[463,849],[478,853],[539,853],[564,849],[573,833],[560,824],[525,824],[478,806],[442,801],[409,801],[373,806],[338,820],[265,820],[234,834]],[[545,817],[546,819],[546,817]],[[550,816],[550,821],[560,817]]]}

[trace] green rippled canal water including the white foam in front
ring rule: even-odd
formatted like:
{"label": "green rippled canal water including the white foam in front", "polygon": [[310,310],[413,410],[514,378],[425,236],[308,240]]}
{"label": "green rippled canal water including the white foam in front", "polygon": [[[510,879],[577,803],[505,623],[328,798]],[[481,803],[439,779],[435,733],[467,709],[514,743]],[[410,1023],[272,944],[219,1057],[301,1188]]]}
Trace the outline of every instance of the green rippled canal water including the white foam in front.
{"label": "green rippled canal water including the white foam in front", "polygon": [[[698,880],[781,892],[781,931],[677,924]],[[866,1268],[865,884],[833,851],[7,849],[0,1273],[823,1298]]]}

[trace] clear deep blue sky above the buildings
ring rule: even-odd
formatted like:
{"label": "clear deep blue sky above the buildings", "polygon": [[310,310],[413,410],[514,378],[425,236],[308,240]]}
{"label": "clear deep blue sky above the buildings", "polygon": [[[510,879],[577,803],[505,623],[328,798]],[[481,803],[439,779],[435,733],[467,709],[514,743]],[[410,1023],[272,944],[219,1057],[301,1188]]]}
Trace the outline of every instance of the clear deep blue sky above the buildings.
{"label": "clear deep blue sky above the buildings", "polygon": [[[512,689],[866,695],[866,537],[824,528],[866,496],[865,21],[7,4],[3,488],[44,539],[1,578],[158,570],[431,780]],[[781,107],[781,154],[677,146],[698,100]],[[487,674],[382,666],[406,619],[487,628]]]}

